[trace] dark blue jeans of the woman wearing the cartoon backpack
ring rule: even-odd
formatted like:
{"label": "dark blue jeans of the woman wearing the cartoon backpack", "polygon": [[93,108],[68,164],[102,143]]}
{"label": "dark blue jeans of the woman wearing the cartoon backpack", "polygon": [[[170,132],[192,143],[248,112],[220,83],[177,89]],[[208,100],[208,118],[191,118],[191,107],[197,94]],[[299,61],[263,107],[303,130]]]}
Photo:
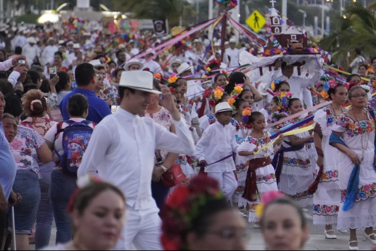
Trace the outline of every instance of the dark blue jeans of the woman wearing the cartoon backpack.
{"label": "dark blue jeans of the woman wearing the cartoon backpack", "polygon": [[77,178],[64,174],[59,169],[51,172],[50,196],[56,223],[56,244],[72,239],[71,217],[67,213],[69,199],[76,190]]}

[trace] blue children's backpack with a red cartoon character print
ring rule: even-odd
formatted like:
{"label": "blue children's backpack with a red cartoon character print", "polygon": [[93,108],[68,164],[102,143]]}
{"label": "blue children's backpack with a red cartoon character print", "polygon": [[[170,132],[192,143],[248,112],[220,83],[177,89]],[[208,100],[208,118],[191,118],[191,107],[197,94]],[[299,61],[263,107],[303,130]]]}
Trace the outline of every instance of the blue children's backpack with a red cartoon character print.
{"label": "blue children's backpack with a red cartoon character print", "polygon": [[[68,126],[62,128],[63,123]],[[55,134],[55,139],[59,133],[63,133],[62,145],[64,154],[60,154],[55,150],[56,156],[60,159],[59,168],[67,175],[77,176],[77,169],[82,161],[82,156],[88,147],[89,140],[93,129],[89,126],[91,121],[74,122],[72,120],[62,121],[57,124],[58,131]]]}

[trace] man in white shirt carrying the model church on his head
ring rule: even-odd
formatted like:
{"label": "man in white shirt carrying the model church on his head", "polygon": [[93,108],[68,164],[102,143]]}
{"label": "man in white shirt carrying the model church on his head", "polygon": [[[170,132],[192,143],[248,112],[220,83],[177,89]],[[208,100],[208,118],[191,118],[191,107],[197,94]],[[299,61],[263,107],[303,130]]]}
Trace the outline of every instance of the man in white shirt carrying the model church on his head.
{"label": "man in white shirt carrying the model church on his head", "polygon": [[309,75],[312,76],[310,79],[304,79],[303,77],[293,76],[294,66],[287,65],[286,62],[283,62],[281,65],[282,76],[278,76],[278,71],[276,71],[271,79],[280,79],[281,81],[286,81],[290,85],[290,92],[293,94],[293,98],[299,98],[302,103],[306,104],[306,107],[312,107],[312,95],[309,95],[306,89],[309,86],[315,85],[318,80],[320,80],[321,72],[320,70],[310,70]]}

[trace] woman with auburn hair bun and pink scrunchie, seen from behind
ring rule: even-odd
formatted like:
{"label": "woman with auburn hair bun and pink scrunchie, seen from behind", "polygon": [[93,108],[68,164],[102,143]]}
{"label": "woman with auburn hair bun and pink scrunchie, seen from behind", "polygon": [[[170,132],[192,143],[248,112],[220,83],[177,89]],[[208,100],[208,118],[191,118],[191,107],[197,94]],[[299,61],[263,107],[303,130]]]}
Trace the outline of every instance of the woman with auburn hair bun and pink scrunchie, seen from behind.
{"label": "woman with auburn hair bun and pink scrunchie, seen from behind", "polygon": [[[65,73],[66,74],[66,73]],[[46,114],[49,110],[47,105],[47,97],[43,92],[38,90],[30,90],[21,98],[23,111],[27,116],[20,124],[35,130],[42,138],[47,131],[56,125],[56,122],[47,118]],[[53,221],[53,211],[50,202],[50,184],[51,172],[55,167],[55,162],[38,163],[39,172],[41,174],[41,201],[36,213],[36,229],[35,229],[35,247],[36,249],[48,245],[50,241],[51,227]]]}

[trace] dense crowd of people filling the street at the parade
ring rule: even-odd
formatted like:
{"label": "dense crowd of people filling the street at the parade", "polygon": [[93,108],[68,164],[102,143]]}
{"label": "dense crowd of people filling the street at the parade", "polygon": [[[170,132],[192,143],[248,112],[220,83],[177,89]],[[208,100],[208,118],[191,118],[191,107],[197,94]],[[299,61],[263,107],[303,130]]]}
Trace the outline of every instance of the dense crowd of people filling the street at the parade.
{"label": "dense crowd of people filling the street at the parade", "polygon": [[2,248],[242,250],[246,218],[298,250],[312,213],[326,239],[376,245],[376,57],[356,48],[349,76],[277,60],[265,93],[233,33],[158,56],[152,33],[0,33]]}

